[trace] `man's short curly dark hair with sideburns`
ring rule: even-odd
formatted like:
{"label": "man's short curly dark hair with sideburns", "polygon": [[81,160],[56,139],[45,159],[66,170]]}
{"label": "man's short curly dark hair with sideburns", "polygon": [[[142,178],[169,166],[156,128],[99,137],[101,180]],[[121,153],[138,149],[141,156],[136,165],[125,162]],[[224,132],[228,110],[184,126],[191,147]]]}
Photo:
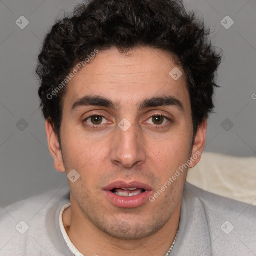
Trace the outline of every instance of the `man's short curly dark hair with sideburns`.
{"label": "man's short curly dark hair with sideburns", "polygon": [[66,87],[49,95],[88,54],[116,47],[167,50],[185,71],[193,132],[213,109],[213,88],[220,53],[209,41],[209,29],[178,0],[92,0],[78,5],[71,17],[57,21],[38,56],[40,106],[60,141],[62,99]]}

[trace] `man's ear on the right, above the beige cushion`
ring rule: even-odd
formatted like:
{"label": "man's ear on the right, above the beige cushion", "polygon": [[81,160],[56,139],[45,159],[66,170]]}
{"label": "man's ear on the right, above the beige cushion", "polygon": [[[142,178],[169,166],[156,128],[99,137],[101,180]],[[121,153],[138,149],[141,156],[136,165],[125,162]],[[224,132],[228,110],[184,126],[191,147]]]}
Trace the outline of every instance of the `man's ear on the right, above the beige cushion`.
{"label": "man's ear on the right, above the beige cushion", "polygon": [[204,149],[206,141],[206,131],[207,131],[207,119],[205,119],[195,134],[194,144],[192,148],[192,153],[190,156],[189,168],[194,167],[201,159],[201,154]]}

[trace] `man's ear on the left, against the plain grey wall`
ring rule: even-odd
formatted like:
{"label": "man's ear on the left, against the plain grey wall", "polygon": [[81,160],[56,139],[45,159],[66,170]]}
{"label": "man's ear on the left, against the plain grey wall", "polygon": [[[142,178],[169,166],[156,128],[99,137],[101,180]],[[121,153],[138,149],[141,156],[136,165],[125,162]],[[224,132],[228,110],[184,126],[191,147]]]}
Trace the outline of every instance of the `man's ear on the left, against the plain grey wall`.
{"label": "man's ear on the left, against the plain grey wall", "polygon": [[65,172],[62,153],[58,143],[58,138],[49,120],[46,120],[45,128],[50,154],[54,159],[54,167],[59,172]]}

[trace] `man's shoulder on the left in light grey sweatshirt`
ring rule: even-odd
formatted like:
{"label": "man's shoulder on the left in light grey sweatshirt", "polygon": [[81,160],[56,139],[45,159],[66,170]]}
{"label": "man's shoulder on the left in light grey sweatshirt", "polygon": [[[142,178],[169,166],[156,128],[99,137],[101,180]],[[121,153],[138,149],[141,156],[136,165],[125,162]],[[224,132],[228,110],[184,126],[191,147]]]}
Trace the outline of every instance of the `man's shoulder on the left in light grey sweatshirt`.
{"label": "man's shoulder on the left in light grey sweatshirt", "polygon": [[0,208],[0,254],[27,255],[43,250],[45,253],[44,248],[47,246],[54,251],[50,237],[55,237],[56,243],[58,242],[57,212],[67,202],[69,188],[64,185]]}

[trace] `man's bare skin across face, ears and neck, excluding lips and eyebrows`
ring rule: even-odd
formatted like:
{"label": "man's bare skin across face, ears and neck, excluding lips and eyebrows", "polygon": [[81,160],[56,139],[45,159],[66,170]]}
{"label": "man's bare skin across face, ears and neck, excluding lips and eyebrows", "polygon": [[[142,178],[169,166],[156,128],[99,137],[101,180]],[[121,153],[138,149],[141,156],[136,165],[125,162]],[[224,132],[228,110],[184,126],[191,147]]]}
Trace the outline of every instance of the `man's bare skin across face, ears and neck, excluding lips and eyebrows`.
{"label": "man's bare skin across face, ears and neck, excluding lips and eyebrows", "polygon": [[[66,174],[75,169],[80,174],[76,182],[68,180],[71,207],[64,211],[63,223],[84,255],[165,255],[174,240],[187,170],[154,202],[140,207],[116,207],[102,188],[116,180],[140,181],[155,193],[179,166],[196,152],[202,153],[207,123],[199,126],[192,144],[186,79],[182,75],[175,81],[169,75],[175,66],[163,50],[140,47],[128,55],[116,48],[100,51],[67,86],[61,149],[46,121],[55,168]],[[77,100],[95,95],[111,100],[115,107],[84,105],[71,111]],[[144,99],[163,95],[175,97],[183,108],[167,105],[138,110]],[[87,118],[99,114],[104,116],[100,125],[95,124],[95,117]],[[164,115],[171,121],[151,115]],[[123,118],[131,123],[127,131],[117,125]]]}

